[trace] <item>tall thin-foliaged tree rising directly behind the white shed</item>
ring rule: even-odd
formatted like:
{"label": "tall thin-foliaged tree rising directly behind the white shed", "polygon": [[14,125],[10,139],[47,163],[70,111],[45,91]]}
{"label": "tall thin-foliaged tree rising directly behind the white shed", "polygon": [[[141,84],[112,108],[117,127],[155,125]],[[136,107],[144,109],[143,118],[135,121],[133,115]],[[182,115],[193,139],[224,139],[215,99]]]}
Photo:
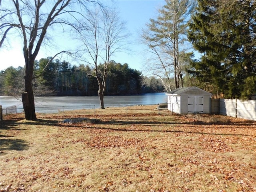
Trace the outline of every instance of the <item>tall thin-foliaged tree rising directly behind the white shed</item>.
{"label": "tall thin-foliaged tree rising directly behind the white shed", "polygon": [[166,0],[166,5],[158,10],[157,19],[150,19],[142,30],[142,40],[153,54],[148,71],[161,79],[167,91],[171,90],[172,79],[175,88],[183,86],[180,53],[188,50],[186,29],[193,10],[192,0]]}

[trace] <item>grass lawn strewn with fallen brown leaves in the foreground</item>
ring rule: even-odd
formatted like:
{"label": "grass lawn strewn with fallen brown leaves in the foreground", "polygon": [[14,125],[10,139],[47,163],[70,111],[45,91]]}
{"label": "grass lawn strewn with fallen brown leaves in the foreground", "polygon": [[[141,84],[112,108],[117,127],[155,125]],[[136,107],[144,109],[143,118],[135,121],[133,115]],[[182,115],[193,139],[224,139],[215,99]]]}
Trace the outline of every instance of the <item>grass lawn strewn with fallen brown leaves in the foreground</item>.
{"label": "grass lawn strewn with fallen brown leaves in the foreground", "polygon": [[255,121],[137,108],[5,116],[1,192],[256,192]]}

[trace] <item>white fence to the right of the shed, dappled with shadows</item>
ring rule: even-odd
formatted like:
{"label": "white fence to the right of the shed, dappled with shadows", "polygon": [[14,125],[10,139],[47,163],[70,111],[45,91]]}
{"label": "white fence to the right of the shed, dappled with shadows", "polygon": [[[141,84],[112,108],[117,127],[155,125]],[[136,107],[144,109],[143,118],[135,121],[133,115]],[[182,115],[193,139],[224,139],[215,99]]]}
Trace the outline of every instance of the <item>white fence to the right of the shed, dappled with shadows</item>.
{"label": "white fence to the right of the shed, dappled with shadows", "polygon": [[220,114],[256,121],[256,100],[220,99]]}

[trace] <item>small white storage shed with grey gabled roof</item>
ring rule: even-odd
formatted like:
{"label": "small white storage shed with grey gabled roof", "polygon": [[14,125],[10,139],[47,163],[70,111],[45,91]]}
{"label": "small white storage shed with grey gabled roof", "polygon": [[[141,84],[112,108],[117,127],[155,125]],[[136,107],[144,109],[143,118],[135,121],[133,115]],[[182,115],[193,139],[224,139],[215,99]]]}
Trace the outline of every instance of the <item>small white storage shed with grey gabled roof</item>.
{"label": "small white storage shed with grey gabled roof", "polygon": [[198,87],[181,87],[166,95],[168,110],[174,113],[211,113],[212,94]]}

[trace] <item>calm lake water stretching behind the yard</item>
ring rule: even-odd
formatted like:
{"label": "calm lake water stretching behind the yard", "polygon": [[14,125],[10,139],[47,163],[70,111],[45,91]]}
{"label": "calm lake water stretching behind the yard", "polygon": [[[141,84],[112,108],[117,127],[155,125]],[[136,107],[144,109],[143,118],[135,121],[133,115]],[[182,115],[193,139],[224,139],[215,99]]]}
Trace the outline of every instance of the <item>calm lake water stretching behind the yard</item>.
{"label": "calm lake water stretching behind the yard", "polygon": [[[152,105],[167,103],[165,93],[148,93],[135,96],[104,96],[104,106],[126,106],[126,105]],[[23,111],[21,98],[0,96],[2,108],[16,106],[17,112]],[[52,113],[81,108],[99,108],[100,100],[95,97],[35,97],[36,112]]]}

